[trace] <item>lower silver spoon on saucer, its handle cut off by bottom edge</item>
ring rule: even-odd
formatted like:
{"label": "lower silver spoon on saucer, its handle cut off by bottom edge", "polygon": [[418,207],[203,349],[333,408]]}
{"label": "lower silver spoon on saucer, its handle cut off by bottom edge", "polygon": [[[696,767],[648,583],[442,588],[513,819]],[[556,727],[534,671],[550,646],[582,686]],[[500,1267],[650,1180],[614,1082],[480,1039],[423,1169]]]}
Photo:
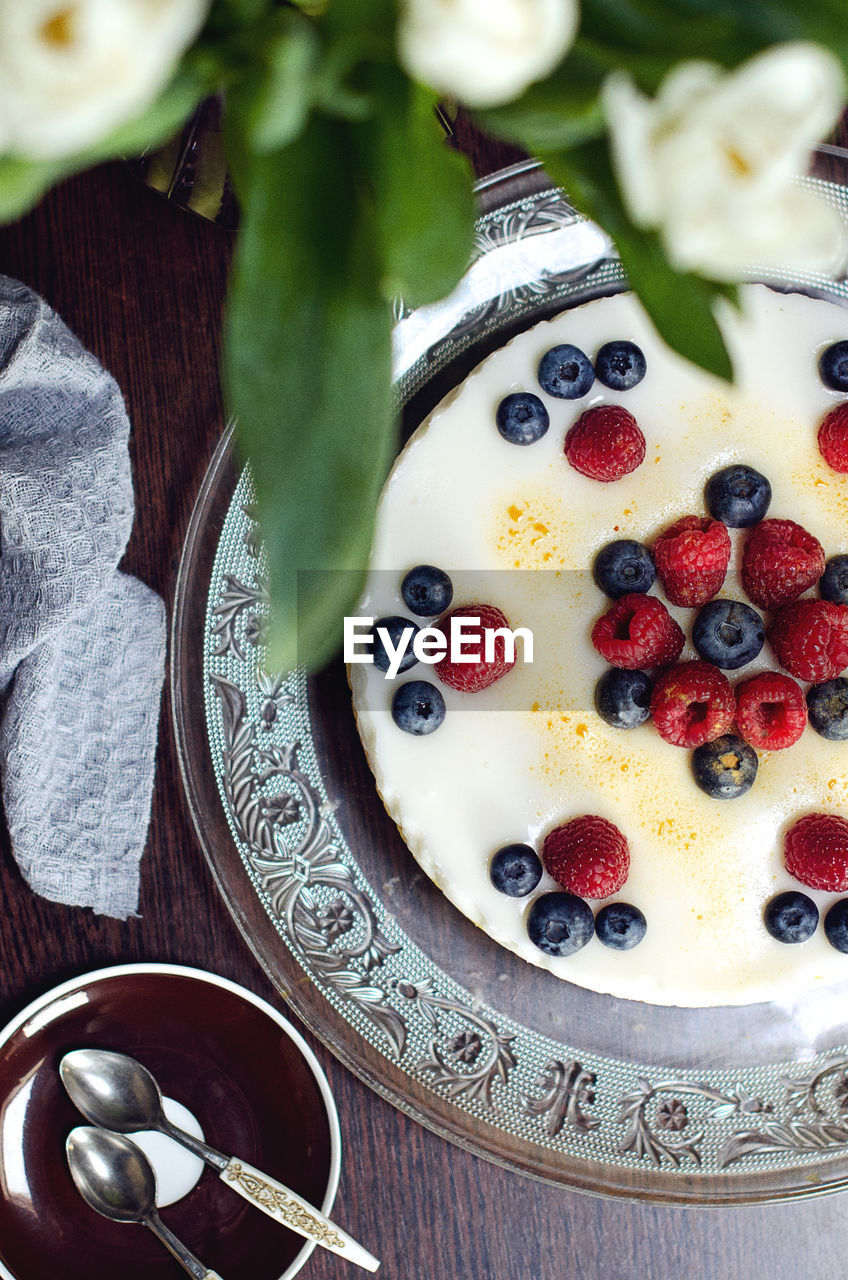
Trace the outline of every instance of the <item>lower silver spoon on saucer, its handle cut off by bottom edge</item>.
{"label": "lower silver spoon on saucer, its handle cut off by bottom edge", "polygon": [[220,1280],[178,1240],[156,1213],[156,1176],[142,1151],[119,1133],[72,1129],[68,1167],[86,1204],[113,1222],[143,1222],[195,1280]]}

